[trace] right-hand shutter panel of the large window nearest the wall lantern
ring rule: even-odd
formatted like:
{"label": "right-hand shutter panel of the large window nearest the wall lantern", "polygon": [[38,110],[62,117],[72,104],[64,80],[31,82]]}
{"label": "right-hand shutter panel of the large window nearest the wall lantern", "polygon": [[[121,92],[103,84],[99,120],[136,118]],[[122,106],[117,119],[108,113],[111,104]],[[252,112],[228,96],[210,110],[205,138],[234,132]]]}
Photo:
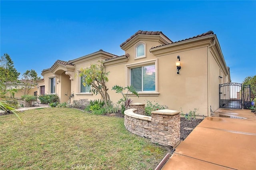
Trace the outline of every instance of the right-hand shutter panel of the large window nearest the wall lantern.
{"label": "right-hand shutter panel of the large window nearest the wall lantern", "polygon": [[143,91],[156,90],[156,69],[155,65],[143,67]]}

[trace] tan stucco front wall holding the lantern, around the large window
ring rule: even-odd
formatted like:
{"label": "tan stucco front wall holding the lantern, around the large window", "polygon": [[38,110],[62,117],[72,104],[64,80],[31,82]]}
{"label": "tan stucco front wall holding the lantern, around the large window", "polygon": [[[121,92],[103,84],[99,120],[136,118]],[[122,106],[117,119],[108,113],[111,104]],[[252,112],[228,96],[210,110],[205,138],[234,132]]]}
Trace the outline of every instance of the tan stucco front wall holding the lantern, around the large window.
{"label": "tan stucco front wall holding the lantern, around the large window", "polygon": [[[156,45],[156,43],[148,43],[147,45]],[[136,45],[136,44],[135,44]],[[130,47],[125,53],[129,53],[129,61],[126,64],[113,65],[106,67],[110,71],[108,88],[114,85],[126,86],[125,81],[125,65],[131,63],[140,63],[157,59],[158,67],[158,96],[132,96],[134,102],[146,103],[146,100],[158,101],[161,105],[167,105],[169,109],[182,110],[184,113],[195,108],[199,108],[198,113],[206,116],[207,111],[207,47],[193,47],[183,51],[174,53],[166,53],[160,57],[154,56],[147,48],[146,58],[134,59],[134,46]],[[175,61],[177,55],[180,55],[181,67],[180,74],[176,72]],[[196,67],[198,65],[198,67]],[[118,79],[116,78],[118,77]],[[129,84],[130,85],[130,84]],[[109,91],[111,100],[116,103],[122,96],[114,91]]]}

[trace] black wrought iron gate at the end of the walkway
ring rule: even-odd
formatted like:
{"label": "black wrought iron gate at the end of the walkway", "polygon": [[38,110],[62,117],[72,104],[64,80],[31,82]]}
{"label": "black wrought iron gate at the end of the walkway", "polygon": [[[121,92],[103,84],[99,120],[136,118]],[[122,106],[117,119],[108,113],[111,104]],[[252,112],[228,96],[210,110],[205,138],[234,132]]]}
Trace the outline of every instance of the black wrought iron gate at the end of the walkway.
{"label": "black wrought iron gate at the end of the walkway", "polygon": [[248,109],[250,107],[250,85],[220,84],[219,93],[220,108]]}

